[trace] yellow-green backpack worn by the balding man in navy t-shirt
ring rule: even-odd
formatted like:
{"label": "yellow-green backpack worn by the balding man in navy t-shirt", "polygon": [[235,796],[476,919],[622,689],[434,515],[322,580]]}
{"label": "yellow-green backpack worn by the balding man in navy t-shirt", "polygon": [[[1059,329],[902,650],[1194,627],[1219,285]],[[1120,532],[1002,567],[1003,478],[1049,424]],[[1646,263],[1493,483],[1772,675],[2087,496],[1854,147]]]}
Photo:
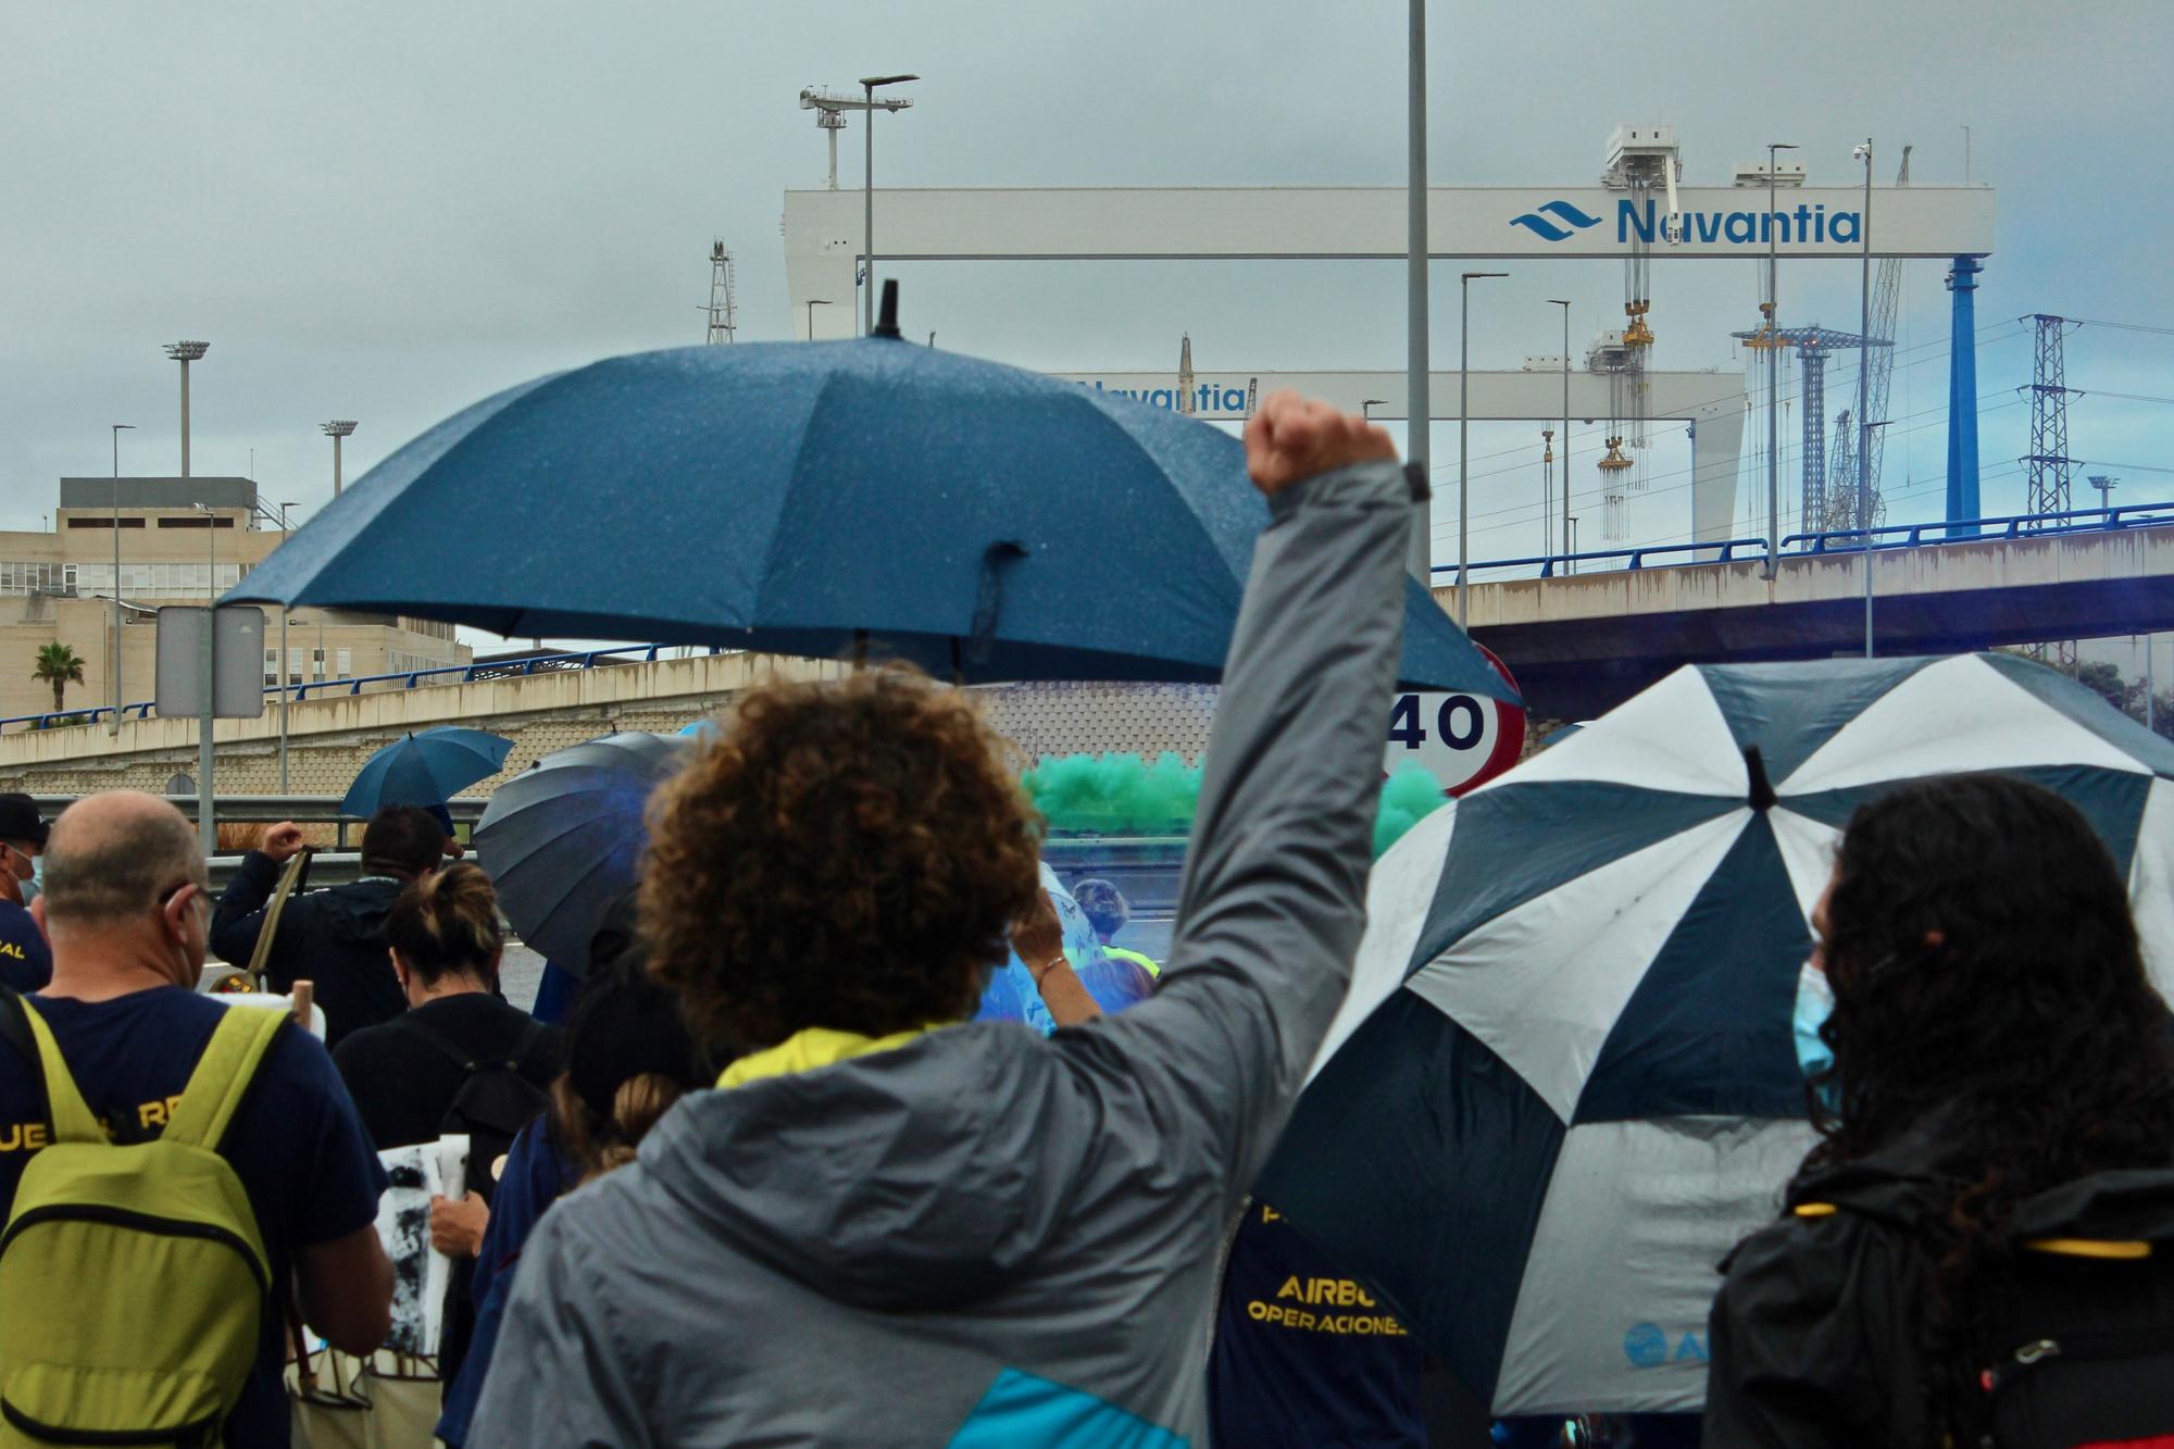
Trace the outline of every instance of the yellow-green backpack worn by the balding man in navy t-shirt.
{"label": "yellow-green backpack worn by the balding man in navy t-shirt", "polygon": [[50,1116],[0,1234],[0,1449],[220,1442],[257,1364],[272,1264],[217,1147],[285,1023],[230,1007],[161,1136],[120,1147],[46,1020],[0,994],[0,1031],[35,1046]]}

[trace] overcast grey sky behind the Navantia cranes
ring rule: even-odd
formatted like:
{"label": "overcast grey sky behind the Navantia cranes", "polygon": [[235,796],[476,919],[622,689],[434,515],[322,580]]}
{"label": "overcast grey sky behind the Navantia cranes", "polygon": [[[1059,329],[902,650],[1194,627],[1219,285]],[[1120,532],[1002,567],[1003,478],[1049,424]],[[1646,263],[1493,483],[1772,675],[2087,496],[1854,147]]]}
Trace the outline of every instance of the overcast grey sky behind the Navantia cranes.
{"label": "overcast grey sky behind the Navantia cranes", "polygon": [[[741,337],[789,329],[780,198],[820,185],[802,85],[926,76],[883,122],[898,185],[1402,181],[1404,4],[700,4],[567,0],[52,4],[0,0],[0,527],[37,527],[54,479],[176,470],[172,363],[193,372],[196,472],[254,474],[309,507],[330,492],[315,424],[359,418],[348,476],[509,383],[700,339],[709,242],[739,257]],[[1430,9],[1439,185],[1580,185],[1615,122],[1672,122],[1685,181],[1726,183],[1770,139],[1813,181],[1878,181],[1915,144],[1922,183],[2000,194],[1981,322],[2028,311],[2174,326],[2163,185],[2174,98],[2163,0],[1528,0]],[[859,183],[859,120],[844,183]],[[1474,366],[1620,322],[1620,270],[1520,263],[1474,307]],[[1948,296],[1911,263],[1898,342],[1896,518],[1939,509]],[[1402,263],[924,263],[909,333],[1041,368],[1400,368]],[[1857,265],[1785,268],[1785,322],[1854,329]],[[1457,346],[1454,265],[1435,268],[1435,348]],[[1737,366],[1746,263],[1654,268],[1654,366]],[[2013,333],[2013,335],[2009,335]],[[2028,381],[2017,329],[1981,350],[1981,392]],[[2070,383],[2174,396],[2174,335],[2083,329]],[[1837,370],[1846,385],[1850,372]],[[2015,507],[2026,409],[1985,413],[1985,500]],[[2174,407],[2085,398],[2072,453],[2174,496]],[[1472,435],[1478,557],[1539,544],[1539,424]],[[1904,433],[1902,429],[1913,429]],[[1437,429],[1437,463],[1454,429]],[[1515,466],[1511,466],[1515,463]],[[1689,531],[1687,463],[1659,437],[1644,540]],[[2150,466],[2159,472],[2144,472]],[[1594,487],[1589,468],[1578,492]],[[2078,485],[2078,492],[2081,490]],[[2085,498],[2078,498],[2083,503]],[[1748,511],[1748,509],[1746,509]],[[1526,537],[1530,535],[1530,537]],[[1594,546],[1596,535],[1585,533]],[[1452,550],[1454,544],[1450,542]]]}

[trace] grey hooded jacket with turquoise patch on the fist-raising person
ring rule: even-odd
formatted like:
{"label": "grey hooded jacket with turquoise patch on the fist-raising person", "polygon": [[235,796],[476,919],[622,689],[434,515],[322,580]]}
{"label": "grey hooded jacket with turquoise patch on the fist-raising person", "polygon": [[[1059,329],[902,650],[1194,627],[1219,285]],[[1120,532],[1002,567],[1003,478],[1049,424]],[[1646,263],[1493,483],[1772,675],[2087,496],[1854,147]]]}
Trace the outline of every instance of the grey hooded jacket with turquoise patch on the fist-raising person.
{"label": "grey hooded jacket with turquoise patch on the fist-raising person", "polygon": [[1222,1238],[1363,927],[1411,498],[1254,548],[1157,994],[700,1092],[522,1253],[472,1445],[1207,1442]]}

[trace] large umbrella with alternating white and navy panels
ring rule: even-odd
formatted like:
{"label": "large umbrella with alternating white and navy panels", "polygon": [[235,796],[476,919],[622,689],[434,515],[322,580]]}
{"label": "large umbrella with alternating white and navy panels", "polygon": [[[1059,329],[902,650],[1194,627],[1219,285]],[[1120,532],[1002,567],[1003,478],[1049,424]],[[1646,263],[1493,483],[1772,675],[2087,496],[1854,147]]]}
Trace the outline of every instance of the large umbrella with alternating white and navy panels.
{"label": "large umbrella with alternating white and navy panels", "polygon": [[1791,1007],[1839,831],[1950,770],[2078,805],[2174,990],[2174,744],[2007,655],[1685,668],[1376,864],[1261,1197],[1498,1414],[1698,1408],[1715,1264],[1813,1140]]}

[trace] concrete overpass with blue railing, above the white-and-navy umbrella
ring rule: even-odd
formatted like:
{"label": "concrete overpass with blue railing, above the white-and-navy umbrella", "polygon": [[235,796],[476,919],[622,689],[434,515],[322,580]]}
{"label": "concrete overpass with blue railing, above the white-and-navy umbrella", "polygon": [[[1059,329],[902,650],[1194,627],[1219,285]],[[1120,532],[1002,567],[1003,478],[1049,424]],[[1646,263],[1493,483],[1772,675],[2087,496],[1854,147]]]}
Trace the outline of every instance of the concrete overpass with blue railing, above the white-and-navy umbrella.
{"label": "concrete overpass with blue railing, above the white-and-navy umbrella", "polygon": [[[1683,664],[1826,659],[1865,642],[1863,548],[1470,587],[1472,637],[1535,718],[1585,720]],[[1874,651],[1937,655],[2174,629],[2174,522],[1881,546]],[[1478,572],[1478,566],[1474,568]],[[1457,590],[1435,598],[1454,614]]]}

